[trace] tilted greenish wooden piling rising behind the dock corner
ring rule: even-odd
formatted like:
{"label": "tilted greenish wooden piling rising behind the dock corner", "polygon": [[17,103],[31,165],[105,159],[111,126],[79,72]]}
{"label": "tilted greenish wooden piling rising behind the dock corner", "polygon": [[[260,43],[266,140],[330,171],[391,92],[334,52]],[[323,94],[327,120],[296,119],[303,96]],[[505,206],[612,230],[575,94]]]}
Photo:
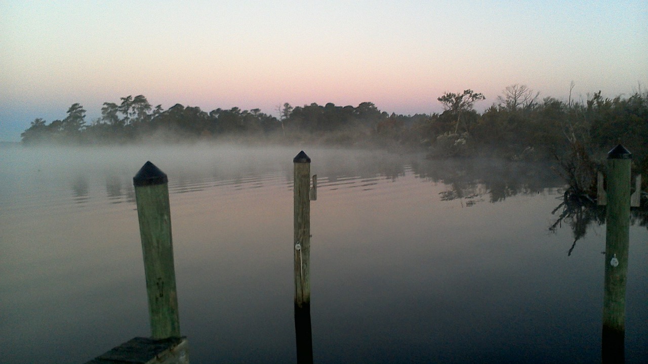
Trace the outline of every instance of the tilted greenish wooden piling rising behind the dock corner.
{"label": "tilted greenish wooden piling rising behind the dock corner", "polygon": [[153,163],[133,177],[152,339],[180,336],[167,175]]}

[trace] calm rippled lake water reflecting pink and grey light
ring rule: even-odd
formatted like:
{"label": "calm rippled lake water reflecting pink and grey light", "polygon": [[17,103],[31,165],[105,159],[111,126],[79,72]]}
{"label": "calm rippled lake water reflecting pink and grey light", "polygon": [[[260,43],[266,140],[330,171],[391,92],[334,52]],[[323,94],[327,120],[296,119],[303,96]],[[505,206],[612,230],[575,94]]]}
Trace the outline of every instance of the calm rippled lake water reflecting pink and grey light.
{"label": "calm rippled lake water reflecting pink and grey light", "polygon": [[[2,363],[149,336],[132,177],[168,174],[192,363],[295,363],[292,158],[311,203],[316,363],[597,363],[605,225],[571,255],[547,166],[322,148],[0,152]],[[631,227],[626,356],[648,360],[648,230]]]}

